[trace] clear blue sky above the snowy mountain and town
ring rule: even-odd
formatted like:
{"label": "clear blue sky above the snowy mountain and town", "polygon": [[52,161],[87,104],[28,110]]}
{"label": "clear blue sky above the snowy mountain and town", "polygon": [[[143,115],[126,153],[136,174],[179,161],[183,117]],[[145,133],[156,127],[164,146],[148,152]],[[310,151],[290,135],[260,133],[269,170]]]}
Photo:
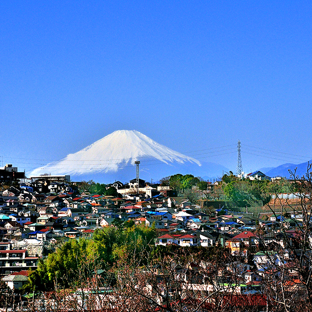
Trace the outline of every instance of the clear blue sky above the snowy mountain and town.
{"label": "clear blue sky above the snowy mountain and town", "polygon": [[27,172],[135,129],[182,153],[240,139],[245,171],[300,163],[311,63],[311,1],[1,1],[0,156]]}

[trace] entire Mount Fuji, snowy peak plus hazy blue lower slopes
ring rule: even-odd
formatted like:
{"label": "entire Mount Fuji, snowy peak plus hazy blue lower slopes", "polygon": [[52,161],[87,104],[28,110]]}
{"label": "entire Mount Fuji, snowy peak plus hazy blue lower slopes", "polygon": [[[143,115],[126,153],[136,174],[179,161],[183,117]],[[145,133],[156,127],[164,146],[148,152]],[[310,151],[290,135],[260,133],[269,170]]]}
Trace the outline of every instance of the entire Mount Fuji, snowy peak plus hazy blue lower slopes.
{"label": "entire Mount Fuji, snowy peak plus hazy blue lower slopes", "polygon": [[221,165],[199,162],[178,153],[136,130],[118,130],[75,154],[35,169],[30,176],[48,173],[71,175],[73,180],[124,182],[136,176],[136,160],[140,161],[140,178],[145,180],[159,180],[177,173],[212,178],[221,176],[222,170],[229,171]]}

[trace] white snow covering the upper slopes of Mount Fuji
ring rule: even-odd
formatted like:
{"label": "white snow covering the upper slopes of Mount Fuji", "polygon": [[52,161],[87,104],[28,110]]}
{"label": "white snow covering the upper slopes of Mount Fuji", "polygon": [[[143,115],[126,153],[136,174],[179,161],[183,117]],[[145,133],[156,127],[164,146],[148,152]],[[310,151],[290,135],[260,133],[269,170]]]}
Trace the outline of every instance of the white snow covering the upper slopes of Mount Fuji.
{"label": "white snow covering the upper slopes of Mount Fuji", "polygon": [[142,165],[183,165],[201,163],[161,145],[136,130],[118,130],[103,137],[75,154],[35,169],[30,175],[90,175],[116,173],[139,160]]}

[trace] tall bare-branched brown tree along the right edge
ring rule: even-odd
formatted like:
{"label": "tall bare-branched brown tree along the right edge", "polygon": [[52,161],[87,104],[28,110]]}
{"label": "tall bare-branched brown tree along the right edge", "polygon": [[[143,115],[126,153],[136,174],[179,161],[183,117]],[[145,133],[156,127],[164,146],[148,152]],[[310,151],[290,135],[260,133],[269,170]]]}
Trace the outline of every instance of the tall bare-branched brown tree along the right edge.
{"label": "tall bare-branched brown tree along the right edge", "polygon": [[[277,219],[281,214],[279,232],[272,230],[271,236],[279,235],[283,241],[272,239],[264,244],[266,261],[261,263],[268,272],[264,279],[264,292],[273,302],[274,311],[312,311],[312,171],[308,165],[307,174],[293,179],[294,200],[283,199],[279,194],[285,190],[284,181],[274,181],[273,203],[267,206]],[[288,184],[288,183],[287,183]],[[285,212],[294,215],[295,228],[289,232]],[[299,217],[298,217],[299,216]]]}

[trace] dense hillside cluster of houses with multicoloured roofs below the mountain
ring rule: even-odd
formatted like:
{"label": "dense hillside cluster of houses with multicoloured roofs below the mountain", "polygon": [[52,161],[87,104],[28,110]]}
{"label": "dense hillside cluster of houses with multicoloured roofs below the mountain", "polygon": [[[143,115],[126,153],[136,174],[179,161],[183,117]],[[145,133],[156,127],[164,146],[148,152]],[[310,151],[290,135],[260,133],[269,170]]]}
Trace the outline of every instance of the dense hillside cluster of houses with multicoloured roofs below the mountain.
{"label": "dense hillside cluster of houses with multicoloured roofs below the mountain", "polygon": [[[268,273],[272,257],[275,263],[284,264],[289,255],[287,250],[283,259],[274,252],[270,256],[255,252],[250,263],[248,251],[252,247],[258,251],[260,244],[285,247],[286,239],[296,235],[294,229],[302,222],[300,215],[272,214],[263,220],[247,213],[219,215],[221,209],[208,214],[188,198],[170,196],[168,189],[150,185],[140,185],[137,194],[125,192],[118,182],[114,187],[119,195],[114,197],[74,193],[66,179],[40,179],[12,186],[0,195],[0,276],[11,288],[27,282],[25,272],[35,270],[38,259],[53,251],[59,240],[92,237],[97,228],[120,221],[154,227],[156,246],[228,247],[245,259],[237,264],[243,268],[244,285],[256,286]],[[134,191],[135,180],[130,183],[128,189]],[[50,192],[42,193],[43,189]],[[242,292],[259,292],[258,287],[246,287],[241,287]]]}

